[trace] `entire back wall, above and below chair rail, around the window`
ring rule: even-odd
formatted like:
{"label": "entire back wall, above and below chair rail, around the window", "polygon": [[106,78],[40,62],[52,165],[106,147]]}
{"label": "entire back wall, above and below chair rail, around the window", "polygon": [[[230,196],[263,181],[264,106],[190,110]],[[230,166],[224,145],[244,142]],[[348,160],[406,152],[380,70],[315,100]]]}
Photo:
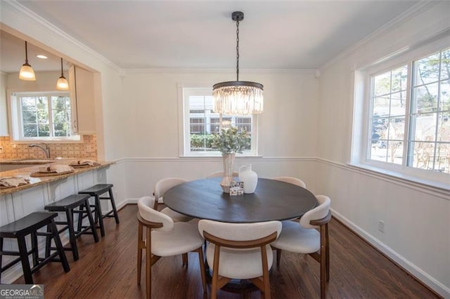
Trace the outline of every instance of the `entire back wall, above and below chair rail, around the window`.
{"label": "entire back wall, above and below chair rail, around the window", "polygon": [[[123,79],[126,107],[120,124],[129,197],[153,192],[160,178],[205,178],[221,170],[220,158],[179,158],[179,98],[177,87],[212,87],[233,78],[233,72],[130,72]],[[243,80],[264,85],[264,113],[258,115],[259,154],[238,158],[235,169],[252,163],[260,176],[297,175],[311,186],[316,152],[318,81],[311,71],[242,72]],[[118,109],[117,109],[118,110]],[[281,167],[282,166],[282,167]]]}

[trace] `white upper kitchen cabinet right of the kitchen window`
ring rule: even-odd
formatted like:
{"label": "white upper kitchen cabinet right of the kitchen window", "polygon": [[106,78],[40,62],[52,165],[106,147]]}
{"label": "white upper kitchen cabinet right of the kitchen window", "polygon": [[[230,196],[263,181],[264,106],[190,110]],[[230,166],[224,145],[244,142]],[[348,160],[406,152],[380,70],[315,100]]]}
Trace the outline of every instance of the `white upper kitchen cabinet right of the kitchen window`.
{"label": "white upper kitchen cabinet right of the kitchen window", "polygon": [[96,133],[94,73],[72,65],[69,69],[72,99],[72,132],[79,135]]}

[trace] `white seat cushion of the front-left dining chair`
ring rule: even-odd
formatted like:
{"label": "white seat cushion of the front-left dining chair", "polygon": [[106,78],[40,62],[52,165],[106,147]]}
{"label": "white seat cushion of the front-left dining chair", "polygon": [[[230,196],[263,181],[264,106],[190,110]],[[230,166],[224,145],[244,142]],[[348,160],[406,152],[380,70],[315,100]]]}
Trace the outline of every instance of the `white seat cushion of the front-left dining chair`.
{"label": "white seat cushion of the front-left dining chair", "polygon": [[201,247],[203,242],[196,224],[176,222],[169,232],[152,232],[152,253],[158,256],[179,255]]}

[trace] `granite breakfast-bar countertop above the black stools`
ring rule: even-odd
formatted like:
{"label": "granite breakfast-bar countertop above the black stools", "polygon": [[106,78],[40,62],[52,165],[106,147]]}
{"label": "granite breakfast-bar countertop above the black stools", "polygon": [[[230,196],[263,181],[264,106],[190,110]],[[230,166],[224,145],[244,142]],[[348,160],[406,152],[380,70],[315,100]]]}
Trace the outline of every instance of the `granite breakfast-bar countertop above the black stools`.
{"label": "granite breakfast-bar countertop above the black stools", "polygon": [[[51,163],[69,164],[70,161],[72,161],[72,160],[73,159],[58,159],[58,161],[51,161]],[[51,163],[49,163],[49,164],[51,164]],[[5,195],[5,194],[11,194],[11,193],[22,191],[22,190],[26,190],[31,187],[36,187],[39,185],[44,185],[47,182],[61,180],[63,178],[68,178],[72,175],[77,175],[79,173],[86,173],[88,171],[92,171],[92,170],[99,169],[99,168],[104,168],[104,167],[110,166],[111,164],[115,164],[115,162],[110,162],[110,161],[98,161],[98,163],[100,163],[101,165],[89,166],[89,167],[84,167],[84,168],[74,168],[74,171],[72,173],[64,173],[61,175],[53,175],[53,176],[43,176],[43,177],[39,177],[39,178],[30,177],[30,174],[39,171],[39,168],[42,166],[45,166],[45,164],[41,164],[39,166],[14,169],[11,171],[2,171],[2,172],[0,172],[0,178],[11,177],[11,176],[23,176],[25,178],[30,179],[30,184],[20,185],[18,187],[8,187],[8,188],[0,189],[0,196]],[[30,164],[30,163],[28,163],[28,164]],[[36,163],[33,163],[33,164],[36,164]]]}

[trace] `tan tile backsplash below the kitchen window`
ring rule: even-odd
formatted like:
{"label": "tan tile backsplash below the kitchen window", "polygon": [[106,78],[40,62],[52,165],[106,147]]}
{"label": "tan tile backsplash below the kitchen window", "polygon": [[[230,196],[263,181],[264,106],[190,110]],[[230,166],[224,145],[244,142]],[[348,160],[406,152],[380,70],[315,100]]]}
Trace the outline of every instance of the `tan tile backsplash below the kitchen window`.
{"label": "tan tile backsplash below the kitchen window", "polygon": [[[38,143],[38,142],[30,142]],[[9,136],[0,137],[0,159],[44,159],[45,154],[38,147],[28,147],[25,143],[11,143]],[[81,143],[47,143],[50,157],[92,158],[97,159],[96,135],[83,135]]]}

